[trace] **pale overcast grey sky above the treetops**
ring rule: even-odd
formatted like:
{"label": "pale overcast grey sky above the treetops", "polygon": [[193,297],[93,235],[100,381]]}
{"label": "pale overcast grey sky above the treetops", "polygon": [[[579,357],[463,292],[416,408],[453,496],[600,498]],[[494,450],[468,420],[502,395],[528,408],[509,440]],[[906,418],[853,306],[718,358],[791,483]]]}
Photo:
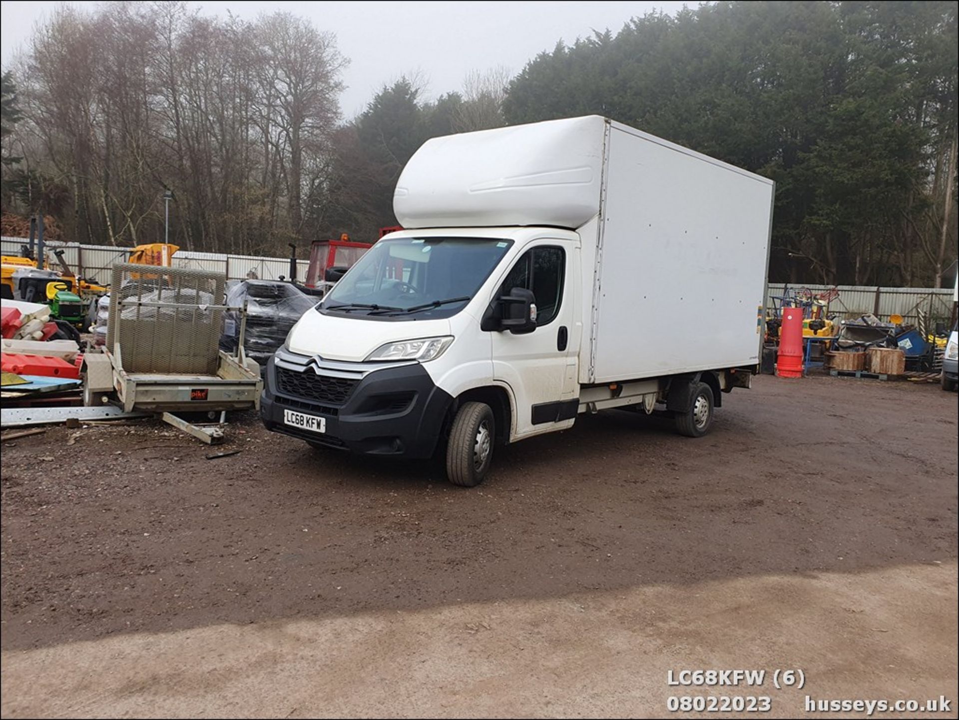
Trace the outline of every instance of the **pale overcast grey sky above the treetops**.
{"label": "pale overcast grey sky above the treetops", "polygon": [[[6,68],[37,20],[60,2],[0,3],[0,39]],[[71,2],[94,7],[94,2]],[[434,97],[462,85],[466,73],[503,65],[512,73],[526,60],[551,50],[560,38],[573,42],[594,29],[618,32],[630,17],[661,10],[676,12],[683,2],[190,2],[204,14],[227,10],[245,19],[261,12],[289,11],[308,17],[337,35],[350,59],[340,97],[349,118],[363,110],[385,83],[419,72]]]}

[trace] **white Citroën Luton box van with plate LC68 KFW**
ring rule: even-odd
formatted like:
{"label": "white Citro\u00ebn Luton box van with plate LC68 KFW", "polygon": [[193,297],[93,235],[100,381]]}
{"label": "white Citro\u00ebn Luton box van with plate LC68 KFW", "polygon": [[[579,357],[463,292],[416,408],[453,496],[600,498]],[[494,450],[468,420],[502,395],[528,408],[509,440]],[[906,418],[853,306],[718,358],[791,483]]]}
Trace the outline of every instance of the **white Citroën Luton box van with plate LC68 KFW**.
{"label": "white Citro\u00ebn Luton box van with plate LC68 KFW", "polygon": [[598,116],[434,138],[386,235],[269,361],[269,430],[357,453],[497,444],[578,414],[692,437],[760,362],[773,182]]}

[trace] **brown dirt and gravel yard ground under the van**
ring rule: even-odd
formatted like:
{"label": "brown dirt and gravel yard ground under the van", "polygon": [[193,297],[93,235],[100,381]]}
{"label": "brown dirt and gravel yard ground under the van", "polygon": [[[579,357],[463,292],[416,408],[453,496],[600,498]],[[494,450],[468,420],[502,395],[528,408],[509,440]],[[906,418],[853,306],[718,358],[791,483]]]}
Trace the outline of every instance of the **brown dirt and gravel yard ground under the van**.
{"label": "brown dirt and gravel yard ground under the van", "polygon": [[[760,377],[699,440],[600,413],[501,449],[473,490],[252,414],[228,435],[4,443],[4,717],[662,716],[690,694],[782,717],[946,695],[956,717],[938,385]],[[807,682],[667,685],[687,668]]]}

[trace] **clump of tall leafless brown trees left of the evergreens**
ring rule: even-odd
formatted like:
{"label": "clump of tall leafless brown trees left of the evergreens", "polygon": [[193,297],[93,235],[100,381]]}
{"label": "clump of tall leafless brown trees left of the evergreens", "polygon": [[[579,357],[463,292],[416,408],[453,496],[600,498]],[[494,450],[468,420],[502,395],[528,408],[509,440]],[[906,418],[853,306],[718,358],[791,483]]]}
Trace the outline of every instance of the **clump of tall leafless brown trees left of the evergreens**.
{"label": "clump of tall leafless brown trees left of the evergreens", "polygon": [[[70,190],[67,237],[285,250],[328,182],[346,60],[286,13],[248,23],[184,3],[63,6],[14,68],[25,166]],[[5,202],[10,197],[5,197]]]}

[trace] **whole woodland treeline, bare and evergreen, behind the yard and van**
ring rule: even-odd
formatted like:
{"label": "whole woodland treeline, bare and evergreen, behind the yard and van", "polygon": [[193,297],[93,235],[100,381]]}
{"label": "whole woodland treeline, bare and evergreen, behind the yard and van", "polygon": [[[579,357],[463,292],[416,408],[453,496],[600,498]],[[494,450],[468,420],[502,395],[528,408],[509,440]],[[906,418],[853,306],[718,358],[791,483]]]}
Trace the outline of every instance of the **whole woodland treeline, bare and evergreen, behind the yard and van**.
{"label": "whole woodland treeline, bare and evergreen, behind the yard and van", "polygon": [[[426,139],[597,113],[772,177],[770,279],[938,286],[956,257],[956,2],[719,2],[559,43],[518,75],[339,110],[348,58],[287,13],[63,8],[3,83],[5,214],[63,238],[284,254],[395,224]],[[7,216],[5,215],[5,220]]]}

